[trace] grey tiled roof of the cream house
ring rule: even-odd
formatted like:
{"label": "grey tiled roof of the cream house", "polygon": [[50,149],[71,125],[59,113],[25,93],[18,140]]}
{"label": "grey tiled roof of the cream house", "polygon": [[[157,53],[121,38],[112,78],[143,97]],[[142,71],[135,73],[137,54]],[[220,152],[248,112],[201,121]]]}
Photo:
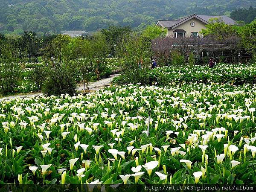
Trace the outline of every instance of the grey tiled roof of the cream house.
{"label": "grey tiled roof of the cream house", "polygon": [[228,16],[223,16],[223,15],[189,15],[186,17],[182,17],[178,20],[158,20],[157,24],[159,24],[160,26],[163,27],[167,27],[167,28],[175,28],[176,26],[186,22],[186,20],[192,19],[192,18],[197,18],[199,20],[201,20],[204,23],[208,23],[210,18],[221,18],[226,24],[229,25],[235,25],[236,21],[231,19]]}

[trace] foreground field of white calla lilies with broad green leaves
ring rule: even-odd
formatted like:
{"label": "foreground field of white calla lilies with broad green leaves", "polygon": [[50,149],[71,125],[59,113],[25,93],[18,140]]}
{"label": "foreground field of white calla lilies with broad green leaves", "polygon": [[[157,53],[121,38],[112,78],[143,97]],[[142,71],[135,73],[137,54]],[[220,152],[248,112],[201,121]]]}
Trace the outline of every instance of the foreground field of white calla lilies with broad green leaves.
{"label": "foreground field of white calla lilies with broad green leaves", "polygon": [[255,97],[130,84],[1,100],[0,183],[255,183]]}

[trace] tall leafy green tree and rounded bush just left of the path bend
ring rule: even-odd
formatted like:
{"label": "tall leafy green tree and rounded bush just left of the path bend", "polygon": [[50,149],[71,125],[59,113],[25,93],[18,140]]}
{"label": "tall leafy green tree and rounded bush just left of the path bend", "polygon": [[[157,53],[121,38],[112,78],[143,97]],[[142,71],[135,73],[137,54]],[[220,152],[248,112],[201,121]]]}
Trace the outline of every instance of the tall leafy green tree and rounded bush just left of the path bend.
{"label": "tall leafy green tree and rounded bush just left of the path bend", "polygon": [[67,35],[58,35],[45,49],[48,63],[47,80],[42,91],[47,95],[76,93],[73,44]]}

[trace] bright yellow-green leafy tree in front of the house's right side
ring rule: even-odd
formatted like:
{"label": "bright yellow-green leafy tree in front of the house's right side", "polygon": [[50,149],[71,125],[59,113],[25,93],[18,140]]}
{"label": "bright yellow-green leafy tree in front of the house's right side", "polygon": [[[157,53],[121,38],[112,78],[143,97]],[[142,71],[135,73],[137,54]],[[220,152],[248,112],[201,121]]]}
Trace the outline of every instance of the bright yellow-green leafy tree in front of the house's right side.
{"label": "bright yellow-green leafy tree in front of the house's right side", "polygon": [[214,38],[222,41],[223,43],[234,34],[232,26],[227,25],[220,17],[209,19],[206,29],[200,32],[204,36],[212,35]]}

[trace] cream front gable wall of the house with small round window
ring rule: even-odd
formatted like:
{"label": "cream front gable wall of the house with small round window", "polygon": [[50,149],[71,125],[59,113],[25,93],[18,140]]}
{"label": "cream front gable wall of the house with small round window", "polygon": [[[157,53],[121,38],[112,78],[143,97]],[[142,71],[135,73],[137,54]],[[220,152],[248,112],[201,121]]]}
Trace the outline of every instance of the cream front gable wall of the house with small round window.
{"label": "cream front gable wall of the house with small round window", "polygon": [[[190,25],[190,23],[192,21],[195,22],[195,26],[193,26],[193,27]],[[175,27],[174,29],[168,29],[167,36],[168,37],[174,37],[173,31],[175,31],[176,29],[183,29],[183,30],[186,31],[185,37],[190,37],[191,32],[198,32],[198,35],[200,37],[202,37],[202,34],[200,34],[199,32],[202,29],[206,29],[205,25],[206,24],[203,23],[201,20],[198,20],[196,18],[192,18],[192,19],[186,21],[185,23],[182,23],[181,25]]]}

